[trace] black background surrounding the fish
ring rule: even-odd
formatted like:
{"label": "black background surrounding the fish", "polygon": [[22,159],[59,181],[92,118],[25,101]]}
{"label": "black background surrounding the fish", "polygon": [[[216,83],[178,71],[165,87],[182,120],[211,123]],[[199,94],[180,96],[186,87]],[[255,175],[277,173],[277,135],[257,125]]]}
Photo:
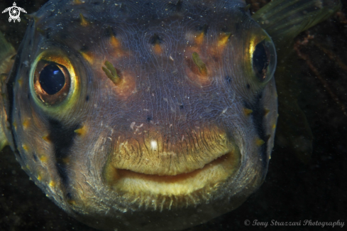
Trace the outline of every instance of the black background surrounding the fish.
{"label": "black background surrounding the fish", "polygon": [[[17,6],[26,9],[28,14],[37,11],[44,3],[44,0],[16,1]],[[250,0],[248,3],[254,12],[266,1]],[[12,4],[13,1],[1,0],[0,11]],[[299,60],[296,68],[299,68],[302,80],[299,105],[314,136],[312,159],[302,163],[292,149],[282,147],[277,139],[263,186],[240,208],[190,230],[326,230],[331,227],[304,226],[304,220],[347,222],[346,13],[345,5],[328,21],[309,29],[314,39],[300,47],[308,60],[295,57]],[[8,14],[0,14],[0,31],[18,48],[28,21],[21,15],[21,23],[9,23],[8,17]],[[302,41],[305,36],[307,32],[299,35],[296,41]],[[312,65],[308,65],[309,62]],[[251,225],[244,225],[245,220],[250,220]],[[269,222],[269,226],[253,226],[254,220]],[[271,220],[301,221],[302,225],[273,227]],[[346,227],[347,224],[334,229]],[[11,149],[6,147],[0,152],[0,230],[93,229],[69,217],[46,198],[33,181],[29,181]]]}

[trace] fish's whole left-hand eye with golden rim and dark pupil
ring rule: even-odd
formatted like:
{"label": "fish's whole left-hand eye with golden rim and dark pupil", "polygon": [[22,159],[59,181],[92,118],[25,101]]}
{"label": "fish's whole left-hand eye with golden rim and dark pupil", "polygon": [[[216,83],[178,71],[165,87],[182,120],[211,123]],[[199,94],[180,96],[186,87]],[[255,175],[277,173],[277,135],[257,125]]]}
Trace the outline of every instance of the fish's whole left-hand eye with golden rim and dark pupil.
{"label": "fish's whole left-hand eye with golden rim and dark pupil", "polygon": [[35,102],[46,110],[61,111],[64,105],[72,106],[78,79],[65,53],[52,51],[38,55],[32,65],[30,87]]}

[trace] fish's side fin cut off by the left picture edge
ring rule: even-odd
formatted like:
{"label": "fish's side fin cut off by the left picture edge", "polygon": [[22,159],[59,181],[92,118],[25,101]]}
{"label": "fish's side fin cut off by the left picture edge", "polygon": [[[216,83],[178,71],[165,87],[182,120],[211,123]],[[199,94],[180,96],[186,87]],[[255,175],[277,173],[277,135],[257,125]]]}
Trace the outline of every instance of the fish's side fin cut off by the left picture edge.
{"label": "fish's side fin cut off by the left picture edge", "polygon": [[11,134],[10,129],[6,126],[8,122],[4,105],[7,95],[6,80],[14,62],[13,55],[16,55],[16,50],[0,33],[0,151],[9,144],[8,137]]}

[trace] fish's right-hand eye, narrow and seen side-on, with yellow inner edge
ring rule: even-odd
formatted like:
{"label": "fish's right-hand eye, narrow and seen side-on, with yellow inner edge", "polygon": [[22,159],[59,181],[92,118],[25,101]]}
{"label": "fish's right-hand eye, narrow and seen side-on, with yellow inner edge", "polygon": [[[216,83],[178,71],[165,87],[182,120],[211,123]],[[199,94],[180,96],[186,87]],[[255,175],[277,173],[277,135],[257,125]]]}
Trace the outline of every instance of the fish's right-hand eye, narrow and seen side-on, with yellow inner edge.
{"label": "fish's right-hand eye, narrow and seen side-on, with yellow inner edge", "polygon": [[258,82],[266,83],[271,79],[276,67],[276,50],[267,34],[251,42],[250,63]]}

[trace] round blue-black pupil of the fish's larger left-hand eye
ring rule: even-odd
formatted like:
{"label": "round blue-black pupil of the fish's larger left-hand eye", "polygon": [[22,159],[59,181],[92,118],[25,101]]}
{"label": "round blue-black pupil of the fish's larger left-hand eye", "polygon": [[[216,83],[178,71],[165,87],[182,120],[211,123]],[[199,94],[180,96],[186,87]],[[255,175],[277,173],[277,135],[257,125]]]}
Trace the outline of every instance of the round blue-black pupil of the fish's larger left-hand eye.
{"label": "round blue-black pupil of the fish's larger left-hand eye", "polygon": [[40,85],[48,95],[54,95],[65,85],[65,76],[57,65],[51,63],[40,72]]}

